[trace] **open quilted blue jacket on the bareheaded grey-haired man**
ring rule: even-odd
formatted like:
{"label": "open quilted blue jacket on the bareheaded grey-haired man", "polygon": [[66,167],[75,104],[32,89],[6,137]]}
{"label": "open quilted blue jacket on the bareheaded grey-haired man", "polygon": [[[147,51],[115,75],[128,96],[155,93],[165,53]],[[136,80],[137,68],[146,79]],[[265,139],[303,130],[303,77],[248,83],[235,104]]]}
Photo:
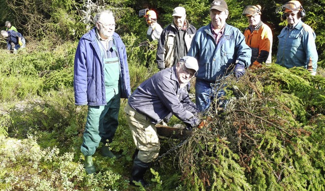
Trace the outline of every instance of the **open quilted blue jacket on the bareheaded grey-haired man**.
{"label": "open quilted blue jacket on the bareheaded grey-haired man", "polygon": [[[119,82],[121,98],[128,98],[131,94],[131,87],[125,45],[118,34],[114,33],[113,38],[116,42],[121,66]],[[79,41],[74,72],[75,104],[106,105],[104,63],[96,40],[95,27],[82,36]]]}

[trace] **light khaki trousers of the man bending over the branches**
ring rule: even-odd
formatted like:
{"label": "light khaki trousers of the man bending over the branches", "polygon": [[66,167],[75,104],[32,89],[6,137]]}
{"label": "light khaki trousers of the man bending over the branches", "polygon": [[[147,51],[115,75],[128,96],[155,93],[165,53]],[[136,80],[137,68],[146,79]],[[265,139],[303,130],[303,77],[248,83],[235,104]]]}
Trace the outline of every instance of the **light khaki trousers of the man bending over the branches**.
{"label": "light khaki trousers of the man bending over the branches", "polygon": [[138,113],[128,104],[126,104],[124,111],[134,143],[139,149],[138,160],[143,163],[152,162],[158,156],[160,150],[155,124],[151,122],[149,117]]}

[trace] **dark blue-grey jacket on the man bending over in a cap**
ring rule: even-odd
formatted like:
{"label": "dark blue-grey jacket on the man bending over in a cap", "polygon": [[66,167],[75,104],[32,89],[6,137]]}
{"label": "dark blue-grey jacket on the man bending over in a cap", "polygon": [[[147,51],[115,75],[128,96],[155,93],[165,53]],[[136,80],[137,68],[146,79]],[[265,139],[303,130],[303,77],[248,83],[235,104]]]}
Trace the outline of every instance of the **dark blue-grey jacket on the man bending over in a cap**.
{"label": "dark blue-grey jacket on the man bending over in a cap", "polygon": [[128,105],[158,123],[170,113],[181,121],[197,125],[197,106],[190,101],[188,92],[180,87],[175,66],[154,74],[132,93]]}

